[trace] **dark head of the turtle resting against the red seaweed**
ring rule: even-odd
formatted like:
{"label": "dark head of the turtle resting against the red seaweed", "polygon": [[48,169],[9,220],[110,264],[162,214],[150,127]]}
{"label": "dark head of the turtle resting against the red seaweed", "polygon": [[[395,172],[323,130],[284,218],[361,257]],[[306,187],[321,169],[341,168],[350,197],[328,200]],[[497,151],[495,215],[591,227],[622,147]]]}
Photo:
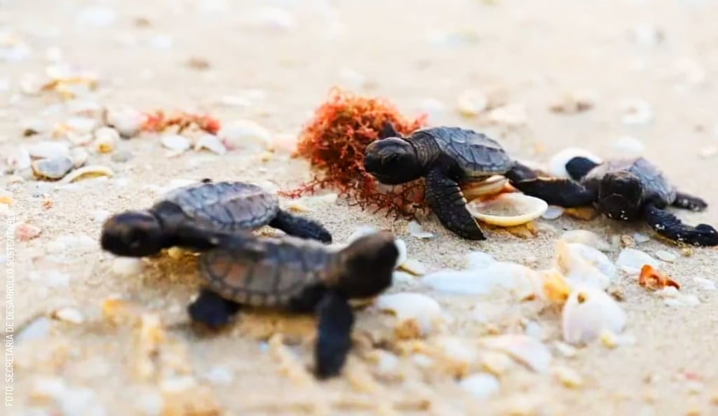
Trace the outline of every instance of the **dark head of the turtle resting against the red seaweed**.
{"label": "dark head of the turtle resting against the red seaweed", "polygon": [[414,146],[403,138],[382,138],[369,143],[364,151],[364,169],[382,184],[404,184],[419,179],[421,168]]}

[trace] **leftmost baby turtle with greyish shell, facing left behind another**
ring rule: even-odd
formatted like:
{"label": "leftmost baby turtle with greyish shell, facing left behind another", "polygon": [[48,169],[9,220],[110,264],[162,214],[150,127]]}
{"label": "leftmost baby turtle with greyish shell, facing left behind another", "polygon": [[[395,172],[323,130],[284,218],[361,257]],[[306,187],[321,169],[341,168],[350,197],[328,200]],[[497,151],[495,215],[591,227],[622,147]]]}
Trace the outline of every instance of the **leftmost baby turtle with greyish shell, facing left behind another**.
{"label": "leftmost baby turtle with greyish shell, facing left behind another", "polygon": [[215,246],[200,230],[238,232],[269,225],[302,238],[332,242],[318,222],[279,208],[276,195],[241,181],[196,184],[173,189],[149,209],[113,215],[103,225],[103,250],[115,255],[144,257],[169,247],[207,250]]}

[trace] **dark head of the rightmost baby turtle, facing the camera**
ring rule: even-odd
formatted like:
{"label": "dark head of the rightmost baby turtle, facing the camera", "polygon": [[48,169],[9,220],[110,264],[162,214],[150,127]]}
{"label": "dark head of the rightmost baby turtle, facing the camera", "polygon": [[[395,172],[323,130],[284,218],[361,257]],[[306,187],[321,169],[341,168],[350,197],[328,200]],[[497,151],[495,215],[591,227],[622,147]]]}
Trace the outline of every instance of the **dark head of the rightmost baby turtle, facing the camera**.
{"label": "dark head of the rightmost baby turtle, facing the camera", "polygon": [[629,172],[612,172],[601,179],[597,208],[612,219],[633,220],[643,205],[643,183]]}

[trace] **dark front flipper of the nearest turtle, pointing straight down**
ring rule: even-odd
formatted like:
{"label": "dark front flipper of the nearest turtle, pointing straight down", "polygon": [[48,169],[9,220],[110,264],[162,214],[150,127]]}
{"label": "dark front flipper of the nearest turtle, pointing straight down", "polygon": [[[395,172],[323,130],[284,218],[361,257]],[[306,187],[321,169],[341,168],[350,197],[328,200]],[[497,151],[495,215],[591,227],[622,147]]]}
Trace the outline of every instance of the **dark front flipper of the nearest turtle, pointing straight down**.
{"label": "dark front flipper of the nearest turtle, pointing straight down", "polygon": [[317,344],[314,366],[317,378],[327,379],[342,372],[352,347],[354,311],[348,299],[329,290],[317,306]]}

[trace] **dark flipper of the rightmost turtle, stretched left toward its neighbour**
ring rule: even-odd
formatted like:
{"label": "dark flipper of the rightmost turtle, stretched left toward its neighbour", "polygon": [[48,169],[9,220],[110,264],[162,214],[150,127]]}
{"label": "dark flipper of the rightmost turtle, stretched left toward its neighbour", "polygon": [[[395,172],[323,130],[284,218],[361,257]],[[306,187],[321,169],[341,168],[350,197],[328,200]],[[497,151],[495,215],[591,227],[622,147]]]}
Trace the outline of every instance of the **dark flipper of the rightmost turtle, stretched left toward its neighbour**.
{"label": "dark flipper of the rightmost turtle, stretched left toward its neighbour", "polygon": [[571,179],[536,178],[511,181],[511,185],[528,195],[543,199],[546,204],[564,208],[584,207],[596,200],[596,192]]}

